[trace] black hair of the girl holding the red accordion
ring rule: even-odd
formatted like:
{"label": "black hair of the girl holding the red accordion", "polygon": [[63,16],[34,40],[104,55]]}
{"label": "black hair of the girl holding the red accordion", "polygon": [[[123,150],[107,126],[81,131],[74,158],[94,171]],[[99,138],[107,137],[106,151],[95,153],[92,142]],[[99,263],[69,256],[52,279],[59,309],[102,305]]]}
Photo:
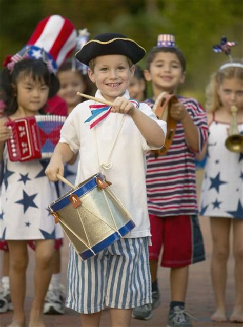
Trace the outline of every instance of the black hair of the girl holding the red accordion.
{"label": "black hair of the girl holding the red accordion", "polygon": [[[7,67],[1,72],[0,87],[3,90],[3,100],[6,104],[4,114],[8,116],[14,114],[18,108],[16,93],[16,85],[19,78],[31,76],[34,81],[43,80],[49,87],[48,98],[53,97],[59,90],[59,80],[48,71],[47,65],[39,59],[23,59],[14,65],[13,71]],[[45,113],[45,106],[40,108],[40,114]]]}

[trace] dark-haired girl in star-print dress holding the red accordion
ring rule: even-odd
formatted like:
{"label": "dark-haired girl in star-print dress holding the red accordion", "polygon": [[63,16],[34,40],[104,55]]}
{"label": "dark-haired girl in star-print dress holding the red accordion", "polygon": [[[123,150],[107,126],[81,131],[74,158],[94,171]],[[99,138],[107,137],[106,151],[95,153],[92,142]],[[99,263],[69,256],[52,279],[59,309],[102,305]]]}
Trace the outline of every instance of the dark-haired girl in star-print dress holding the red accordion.
{"label": "dark-haired girl in star-print dress holding the red accordion", "polygon": [[25,325],[27,242],[34,240],[35,295],[29,327],[40,327],[43,326],[43,302],[52,273],[50,262],[54,253],[54,239],[63,237],[62,230],[59,226],[56,228],[50,218],[46,205],[57,198],[57,194],[53,183],[43,174],[46,161],[9,160],[5,141],[11,137],[11,130],[5,123],[8,120],[45,114],[47,100],[58,91],[59,82],[42,60],[28,58],[3,69],[1,88],[6,107],[0,120],[0,159],[4,162],[0,239],[7,240],[10,251],[13,303],[10,326]]}

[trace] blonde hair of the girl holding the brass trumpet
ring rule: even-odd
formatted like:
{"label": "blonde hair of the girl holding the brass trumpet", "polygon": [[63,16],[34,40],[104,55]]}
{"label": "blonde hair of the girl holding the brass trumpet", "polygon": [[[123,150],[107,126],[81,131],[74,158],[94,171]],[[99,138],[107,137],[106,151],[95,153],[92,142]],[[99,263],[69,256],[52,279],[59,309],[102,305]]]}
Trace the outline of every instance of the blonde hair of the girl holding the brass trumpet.
{"label": "blonde hair of the girl holding the brass trumpet", "polygon": [[[233,63],[243,64],[242,59],[234,59]],[[206,87],[206,104],[205,108],[208,112],[214,112],[221,106],[221,100],[218,95],[218,87],[223,83],[225,79],[236,78],[243,81],[243,68],[239,66],[229,66],[226,68],[218,69],[218,71],[211,75],[210,82]]]}

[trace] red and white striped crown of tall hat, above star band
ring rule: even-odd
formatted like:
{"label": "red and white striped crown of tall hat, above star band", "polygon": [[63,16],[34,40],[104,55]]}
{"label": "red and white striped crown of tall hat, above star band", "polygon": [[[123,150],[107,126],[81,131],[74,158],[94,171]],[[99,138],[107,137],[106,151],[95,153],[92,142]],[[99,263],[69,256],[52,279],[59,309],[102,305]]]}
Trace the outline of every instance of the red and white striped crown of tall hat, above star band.
{"label": "red and white striped crown of tall hat, above star band", "polygon": [[77,43],[77,31],[69,19],[52,15],[40,21],[27,45],[44,49],[60,67]]}

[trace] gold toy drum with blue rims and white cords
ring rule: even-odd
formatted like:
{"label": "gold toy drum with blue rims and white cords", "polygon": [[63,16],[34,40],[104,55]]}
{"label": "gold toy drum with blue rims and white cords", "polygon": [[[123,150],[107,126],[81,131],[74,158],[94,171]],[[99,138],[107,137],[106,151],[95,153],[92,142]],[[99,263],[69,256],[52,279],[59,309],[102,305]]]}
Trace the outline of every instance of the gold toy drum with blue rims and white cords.
{"label": "gold toy drum with blue rims and white cords", "polygon": [[86,260],[106,249],[134,227],[130,213],[97,173],[49,206],[77,253]]}

